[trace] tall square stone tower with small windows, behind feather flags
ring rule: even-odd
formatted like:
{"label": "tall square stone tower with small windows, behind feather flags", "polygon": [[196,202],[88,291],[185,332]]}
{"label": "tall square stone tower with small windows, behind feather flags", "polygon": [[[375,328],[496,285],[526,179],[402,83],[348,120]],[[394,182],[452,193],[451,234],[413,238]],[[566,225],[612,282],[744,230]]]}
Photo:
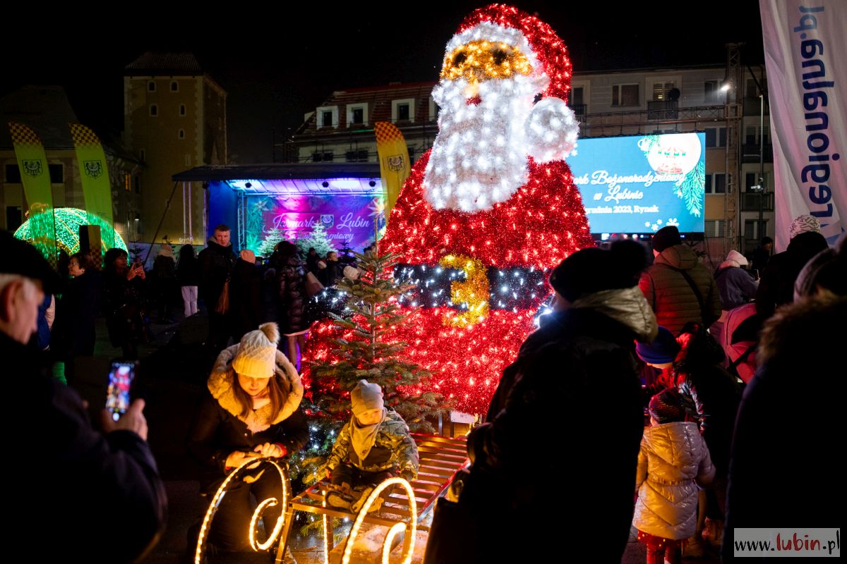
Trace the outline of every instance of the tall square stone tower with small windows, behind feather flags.
{"label": "tall square stone tower with small windows, behind feather flags", "polygon": [[147,52],[124,72],[124,141],[144,164],[141,241],[203,244],[202,183],[177,172],[227,162],[226,92],[190,53]]}

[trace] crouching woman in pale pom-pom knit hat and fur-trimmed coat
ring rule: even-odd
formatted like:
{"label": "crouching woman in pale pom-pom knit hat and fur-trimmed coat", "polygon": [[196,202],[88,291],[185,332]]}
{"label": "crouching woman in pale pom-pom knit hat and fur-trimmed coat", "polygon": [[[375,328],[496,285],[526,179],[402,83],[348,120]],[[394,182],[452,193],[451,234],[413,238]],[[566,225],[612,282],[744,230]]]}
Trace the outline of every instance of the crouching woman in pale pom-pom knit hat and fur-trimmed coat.
{"label": "crouching woman in pale pom-pom knit hat and fur-trimmed coat", "polygon": [[[247,458],[288,457],[308,440],[300,409],[303,386],[294,366],[277,350],[279,340],[276,324],[265,323],[218,355],[208,378],[209,395],[188,439],[191,456],[203,468],[202,489],[210,495]],[[230,485],[213,519],[209,543],[217,550],[251,550],[251,495],[263,501],[281,494],[279,477],[262,467]],[[280,510],[268,507],[266,525],[275,523]]]}

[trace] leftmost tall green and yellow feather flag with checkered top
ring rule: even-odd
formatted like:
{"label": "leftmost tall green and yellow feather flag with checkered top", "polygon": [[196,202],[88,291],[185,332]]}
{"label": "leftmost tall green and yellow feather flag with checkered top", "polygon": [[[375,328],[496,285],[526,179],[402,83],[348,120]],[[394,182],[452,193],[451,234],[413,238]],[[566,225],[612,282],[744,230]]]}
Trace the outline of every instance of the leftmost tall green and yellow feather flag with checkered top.
{"label": "leftmost tall green and yellow feather flag with checkered top", "polygon": [[20,182],[24,184],[26,203],[29,205],[30,236],[32,244],[56,266],[56,222],[53,217],[53,189],[50,169],[42,140],[35,131],[23,123],[9,122],[14,155],[18,160]]}

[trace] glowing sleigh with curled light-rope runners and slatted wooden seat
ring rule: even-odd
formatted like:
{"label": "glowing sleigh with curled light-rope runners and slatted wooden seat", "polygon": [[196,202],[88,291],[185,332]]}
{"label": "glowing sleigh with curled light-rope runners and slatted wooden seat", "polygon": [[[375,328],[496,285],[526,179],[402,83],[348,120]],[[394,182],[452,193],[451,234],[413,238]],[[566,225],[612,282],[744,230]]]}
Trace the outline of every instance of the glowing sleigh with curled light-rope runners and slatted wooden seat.
{"label": "glowing sleigh with curled light-rope runners and slatted wooden seat", "polygon": [[[381,561],[385,564],[389,561],[390,551],[395,546],[397,535],[405,533],[400,561],[402,564],[408,564],[412,561],[415,533],[419,523],[435,507],[435,500],[442,496],[447,488],[450,487],[459,470],[468,465],[466,443],[464,440],[417,434],[412,434],[412,437],[418,445],[418,455],[420,457],[418,478],[413,479],[411,483],[402,478],[386,479],[371,492],[357,514],[345,512],[336,507],[327,507],[325,495],[329,491],[329,482],[320,481],[299,496],[289,500],[291,485],[288,474],[285,471],[285,467],[277,459],[260,458],[258,460],[252,459],[246,461],[230,473],[218,491],[215,492],[211,503],[209,503],[206,515],[203,517],[200,535],[197,537],[195,564],[202,562],[202,557],[206,550],[208,529],[211,526],[215,512],[218,511],[220,501],[226,494],[227,487],[236,479],[240,479],[246,473],[247,467],[254,467],[257,462],[267,463],[276,468],[282,482],[282,500],[280,501],[276,498],[264,500],[258,504],[256,511],[253,512],[250,522],[250,545],[253,550],[269,550],[277,539],[279,539],[280,542],[276,548],[275,561],[282,562],[285,556],[285,545],[287,544],[288,534],[291,531],[291,524],[294,521],[294,512],[304,511],[323,517],[325,564],[329,564],[329,552],[333,549],[330,539],[333,539],[334,535],[332,519],[330,517],[353,519],[352,528],[345,541],[341,556],[342,564],[347,564],[350,561],[353,545],[363,523],[383,525],[388,528],[388,534],[385,535],[381,556]],[[398,489],[400,490],[399,494],[397,492]],[[383,496],[385,503],[379,509],[379,512],[368,514],[368,508],[374,504],[376,498],[382,495],[385,490],[388,490],[390,495]],[[277,505],[285,507],[285,511],[280,514],[280,518],[274,523],[274,527],[270,529],[271,532],[268,534],[268,538],[264,541],[259,541],[256,533],[258,519],[267,507]],[[268,528],[268,523],[265,523],[265,530],[267,531]]]}

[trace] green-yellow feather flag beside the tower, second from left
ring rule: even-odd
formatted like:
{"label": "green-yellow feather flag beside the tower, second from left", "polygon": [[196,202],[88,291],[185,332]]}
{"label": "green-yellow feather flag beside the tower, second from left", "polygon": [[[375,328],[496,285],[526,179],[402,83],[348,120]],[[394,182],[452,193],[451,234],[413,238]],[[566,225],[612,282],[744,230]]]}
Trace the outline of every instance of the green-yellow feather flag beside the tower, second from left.
{"label": "green-yellow feather flag beside the tower, second from left", "polygon": [[86,200],[86,211],[100,217],[112,226],[102,229],[100,237],[106,249],[114,246],[114,224],[112,222],[112,186],[108,179],[106,154],[103,153],[100,139],[91,129],[80,123],[69,123],[71,137],[74,138],[76,161],[80,163],[82,195]]}

